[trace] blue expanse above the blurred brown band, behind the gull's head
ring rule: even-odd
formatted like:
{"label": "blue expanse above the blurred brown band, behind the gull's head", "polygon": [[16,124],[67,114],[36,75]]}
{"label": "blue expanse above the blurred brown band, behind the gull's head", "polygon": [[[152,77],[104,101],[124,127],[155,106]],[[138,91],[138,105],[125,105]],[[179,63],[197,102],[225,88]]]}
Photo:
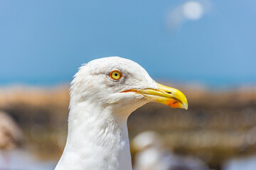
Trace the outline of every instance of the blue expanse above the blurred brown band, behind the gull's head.
{"label": "blue expanse above the blurred brown band, behind the gull's head", "polygon": [[[188,1],[0,1],[0,84],[69,82],[80,64],[120,56],[154,79],[256,83],[256,1],[207,2],[175,29]],[[207,11],[206,11],[207,10]]]}

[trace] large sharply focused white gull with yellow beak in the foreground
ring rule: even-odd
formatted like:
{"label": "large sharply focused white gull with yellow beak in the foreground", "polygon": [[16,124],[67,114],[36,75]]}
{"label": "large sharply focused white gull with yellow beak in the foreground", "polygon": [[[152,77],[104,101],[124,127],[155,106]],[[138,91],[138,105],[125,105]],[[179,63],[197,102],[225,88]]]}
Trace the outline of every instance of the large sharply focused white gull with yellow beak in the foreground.
{"label": "large sharply focused white gull with yellow beak in the foreground", "polygon": [[131,170],[127,118],[150,101],[188,108],[181,91],[156,83],[132,60],[83,64],[71,82],[68,137],[55,170]]}

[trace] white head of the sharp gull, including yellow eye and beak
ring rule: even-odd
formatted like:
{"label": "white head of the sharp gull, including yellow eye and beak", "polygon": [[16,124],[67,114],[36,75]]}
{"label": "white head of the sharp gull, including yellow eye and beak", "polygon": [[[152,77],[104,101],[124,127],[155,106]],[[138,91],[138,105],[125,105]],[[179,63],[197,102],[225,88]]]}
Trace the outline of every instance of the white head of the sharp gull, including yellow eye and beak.
{"label": "white head of the sharp gull, including yellow eye and beak", "polygon": [[70,106],[86,102],[127,114],[149,101],[188,108],[181,91],[156,83],[139,64],[121,57],[82,65],[71,83],[70,98]]}

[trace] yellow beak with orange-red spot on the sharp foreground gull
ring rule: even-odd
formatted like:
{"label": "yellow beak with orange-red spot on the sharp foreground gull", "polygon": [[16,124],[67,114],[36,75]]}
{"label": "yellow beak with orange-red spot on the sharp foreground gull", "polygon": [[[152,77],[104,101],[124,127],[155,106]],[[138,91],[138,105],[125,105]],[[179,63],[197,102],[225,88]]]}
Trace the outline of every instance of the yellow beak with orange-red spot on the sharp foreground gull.
{"label": "yellow beak with orange-red spot on the sharp foreground gull", "polygon": [[137,92],[138,94],[142,94],[149,101],[163,103],[172,108],[188,109],[188,101],[181,91],[162,84],[157,84],[157,86],[159,89],[132,89],[128,91]]}

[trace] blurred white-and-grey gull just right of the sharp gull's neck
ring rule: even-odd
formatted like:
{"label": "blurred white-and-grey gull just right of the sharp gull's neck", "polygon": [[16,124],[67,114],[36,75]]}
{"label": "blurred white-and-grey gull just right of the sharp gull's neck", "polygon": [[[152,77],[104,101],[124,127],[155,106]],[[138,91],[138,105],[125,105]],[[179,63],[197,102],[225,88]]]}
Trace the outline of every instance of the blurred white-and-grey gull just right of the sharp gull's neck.
{"label": "blurred white-and-grey gull just right of the sharp gull's neck", "polygon": [[208,166],[196,157],[178,156],[167,151],[156,132],[140,133],[132,140],[132,146],[137,150],[134,170],[208,170]]}

